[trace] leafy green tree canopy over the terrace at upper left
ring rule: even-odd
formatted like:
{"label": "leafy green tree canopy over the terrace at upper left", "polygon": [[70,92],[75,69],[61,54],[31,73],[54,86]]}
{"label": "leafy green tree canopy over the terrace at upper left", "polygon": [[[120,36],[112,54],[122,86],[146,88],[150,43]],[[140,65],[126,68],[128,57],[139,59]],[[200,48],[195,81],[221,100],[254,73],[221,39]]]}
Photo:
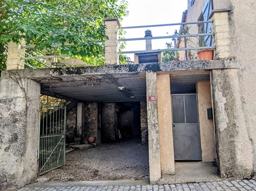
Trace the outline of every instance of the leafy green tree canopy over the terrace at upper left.
{"label": "leafy green tree canopy over the terrace at upper left", "polygon": [[0,70],[6,45],[21,39],[44,53],[71,54],[95,63],[104,54],[97,42],[105,38],[103,18],[121,21],[127,14],[126,0],[0,0]]}

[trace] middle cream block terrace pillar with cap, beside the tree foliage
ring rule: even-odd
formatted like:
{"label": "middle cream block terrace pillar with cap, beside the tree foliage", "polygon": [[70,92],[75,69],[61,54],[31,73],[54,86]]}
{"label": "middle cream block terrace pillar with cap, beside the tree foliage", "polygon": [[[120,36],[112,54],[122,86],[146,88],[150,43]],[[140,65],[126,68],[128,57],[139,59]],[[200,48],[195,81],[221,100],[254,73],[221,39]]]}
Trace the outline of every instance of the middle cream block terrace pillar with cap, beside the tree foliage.
{"label": "middle cream block terrace pillar with cap, beside the tree foliage", "polygon": [[118,58],[118,27],[120,23],[118,18],[104,19],[105,28],[105,64],[119,64]]}

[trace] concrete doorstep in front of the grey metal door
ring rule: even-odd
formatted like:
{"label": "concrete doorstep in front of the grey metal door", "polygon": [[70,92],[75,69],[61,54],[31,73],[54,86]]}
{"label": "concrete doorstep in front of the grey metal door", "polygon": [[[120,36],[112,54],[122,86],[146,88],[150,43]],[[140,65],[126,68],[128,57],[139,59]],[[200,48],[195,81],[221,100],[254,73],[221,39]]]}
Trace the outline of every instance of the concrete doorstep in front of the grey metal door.
{"label": "concrete doorstep in front of the grey metal door", "polygon": [[159,183],[164,185],[220,181],[217,170],[212,162],[175,162],[175,175],[163,175]]}

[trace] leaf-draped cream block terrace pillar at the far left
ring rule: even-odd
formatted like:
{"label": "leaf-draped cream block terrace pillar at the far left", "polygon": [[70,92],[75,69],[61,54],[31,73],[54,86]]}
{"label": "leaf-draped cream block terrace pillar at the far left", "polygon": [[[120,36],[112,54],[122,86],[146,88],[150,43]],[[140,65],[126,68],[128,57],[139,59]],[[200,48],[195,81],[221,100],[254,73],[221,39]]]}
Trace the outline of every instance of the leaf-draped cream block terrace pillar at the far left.
{"label": "leaf-draped cream block terrace pillar at the far left", "polygon": [[21,57],[25,57],[25,49],[21,48],[24,45],[24,40],[21,40],[20,44],[13,42],[8,44],[7,70],[24,69],[25,62],[21,60]]}

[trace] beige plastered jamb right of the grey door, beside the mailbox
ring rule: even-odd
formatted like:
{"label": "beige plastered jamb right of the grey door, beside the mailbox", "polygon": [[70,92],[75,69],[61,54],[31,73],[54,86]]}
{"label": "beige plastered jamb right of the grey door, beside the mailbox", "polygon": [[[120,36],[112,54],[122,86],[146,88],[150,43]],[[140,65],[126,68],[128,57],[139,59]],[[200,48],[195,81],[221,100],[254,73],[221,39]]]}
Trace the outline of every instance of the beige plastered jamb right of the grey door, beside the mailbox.
{"label": "beige plastered jamb right of the grey door, beside the mailbox", "polygon": [[210,82],[197,82],[198,115],[202,149],[202,161],[212,162],[216,158],[213,119],[208,119],[207,108],[212,107]]}

